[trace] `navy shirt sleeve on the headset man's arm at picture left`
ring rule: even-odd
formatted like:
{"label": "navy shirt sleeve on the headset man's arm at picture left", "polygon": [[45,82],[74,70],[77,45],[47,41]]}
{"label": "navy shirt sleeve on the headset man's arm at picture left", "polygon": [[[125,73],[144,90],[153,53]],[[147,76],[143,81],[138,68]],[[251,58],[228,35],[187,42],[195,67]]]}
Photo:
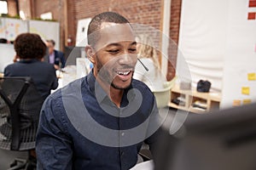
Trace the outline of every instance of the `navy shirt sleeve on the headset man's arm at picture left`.
{"label": "navy shirt sleeve on the headset man's arm at picture left", "polygon": [[[64,110],[63,110],[64,111]],[[72,140],[64,127],[63,111],[57,101],[49,97],[41,110],[36,138],[39,170],[72,169]]]}

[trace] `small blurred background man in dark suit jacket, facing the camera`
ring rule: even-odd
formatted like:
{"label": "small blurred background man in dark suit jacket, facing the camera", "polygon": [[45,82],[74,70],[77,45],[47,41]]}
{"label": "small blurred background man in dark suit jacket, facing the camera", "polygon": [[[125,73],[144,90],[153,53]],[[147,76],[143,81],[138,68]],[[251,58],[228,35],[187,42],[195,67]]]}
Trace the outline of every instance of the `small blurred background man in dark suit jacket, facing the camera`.
{"label": "small blurred background man in dark suit jacket, facing the camera", "polygon": [[64,54],[61,51],[55,50],[55,41],[54,40],[46,40],[46,45],[48,48],[48,55],[44,61],[49,62],[50,64],[55,65],[55,70],[60,68],[64,68],[66,60]]}

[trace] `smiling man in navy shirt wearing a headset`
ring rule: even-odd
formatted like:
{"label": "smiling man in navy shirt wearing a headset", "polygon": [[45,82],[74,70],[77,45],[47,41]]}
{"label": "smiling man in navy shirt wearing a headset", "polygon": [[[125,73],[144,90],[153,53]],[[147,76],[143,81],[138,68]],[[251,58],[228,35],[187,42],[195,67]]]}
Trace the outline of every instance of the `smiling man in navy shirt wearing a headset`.
{"label": "smiling man in navy shirt wearing a headset", "polygon": [[42,107],[38,169],[130,169],[143,142],[153,151],[160,127],[154,94],[132,79],[137,42],[128,20],[105,12],[88,28],[90,74]]}

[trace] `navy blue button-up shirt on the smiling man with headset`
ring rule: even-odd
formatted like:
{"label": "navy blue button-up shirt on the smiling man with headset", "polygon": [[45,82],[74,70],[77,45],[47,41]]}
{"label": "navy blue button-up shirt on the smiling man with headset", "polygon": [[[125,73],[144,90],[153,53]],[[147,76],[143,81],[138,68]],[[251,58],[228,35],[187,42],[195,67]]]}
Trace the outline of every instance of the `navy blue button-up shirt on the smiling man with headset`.
{"label": "navy blue button-up shirt on the smiling man with headset", "polygon": [[154,94],[143,82],[132,80],[117,107],[90,72],[44,101],[38,169],[130,169],[143,142],[154,150],[159,118]]}

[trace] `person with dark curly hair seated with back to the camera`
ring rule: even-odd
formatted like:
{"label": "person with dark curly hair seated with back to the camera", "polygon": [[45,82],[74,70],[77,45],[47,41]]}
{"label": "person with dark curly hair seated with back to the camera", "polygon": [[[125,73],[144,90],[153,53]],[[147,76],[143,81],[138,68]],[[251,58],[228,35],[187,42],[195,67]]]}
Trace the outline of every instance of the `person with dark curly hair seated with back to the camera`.
{"label": "person with dark curly hair seated with back to the camera", "polygon": [[7,65],[4,77],[32,77],[32,81],[43,99],[51,89],[58,87],[55,68],[43,62],[46,45],[38,34],[22,33],[15,38],[16,59],[14,64]]}

